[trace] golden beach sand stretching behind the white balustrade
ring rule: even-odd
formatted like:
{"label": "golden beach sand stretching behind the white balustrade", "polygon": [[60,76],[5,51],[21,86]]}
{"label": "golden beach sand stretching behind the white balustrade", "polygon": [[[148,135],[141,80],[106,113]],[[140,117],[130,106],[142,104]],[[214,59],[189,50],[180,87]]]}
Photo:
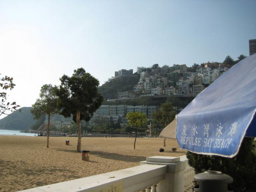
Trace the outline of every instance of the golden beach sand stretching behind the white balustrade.
{"label": "golden beach sand stretching behind the white balustrade", "polygon": [[[65,144],[70,140],[70,146]],[[12,192],[73,180],[133,166],[149,156],[181,156],[176,140],[162,138],[82,138],[82,150],[90,150],[90,162],[76,152],[77,138],[0,136],[0,191]],[[177,152],[171,152],[176,147]],[[159,152],[164,148],[164,152]]]}

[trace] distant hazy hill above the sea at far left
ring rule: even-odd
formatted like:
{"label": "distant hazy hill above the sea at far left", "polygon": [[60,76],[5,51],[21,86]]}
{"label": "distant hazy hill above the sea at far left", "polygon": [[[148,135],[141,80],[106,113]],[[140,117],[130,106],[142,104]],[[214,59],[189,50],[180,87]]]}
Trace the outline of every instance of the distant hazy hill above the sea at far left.
{"label": "distant hazy hill above the sea at far left", "polygon": [[0,119],[0,129],[28,130],[36,122],[30,110],[32,107],[22,107],[21,112],[14,111],[9,116]]}

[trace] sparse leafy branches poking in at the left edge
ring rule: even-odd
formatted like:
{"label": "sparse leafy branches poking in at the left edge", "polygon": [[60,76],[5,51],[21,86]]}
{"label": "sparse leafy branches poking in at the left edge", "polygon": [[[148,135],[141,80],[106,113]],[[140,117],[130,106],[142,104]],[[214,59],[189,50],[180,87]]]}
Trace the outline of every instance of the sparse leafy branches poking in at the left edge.
{"label": "sparse leafy branches poking in at the left edge", "polygon": [[[1,74],[0,74],[1,75]],[[15,84],[12,82],[13,78],[9,76],[0,77],[0,87],[2,87],[3,90],[10,89],[12,90],[15,86]],[[0,116],[2,114],[8,115],[8,111],[13,112],[17,110],[19,105],[16,104],[16,102],[7,102],[7,93],[6,92],[0,92]]]}

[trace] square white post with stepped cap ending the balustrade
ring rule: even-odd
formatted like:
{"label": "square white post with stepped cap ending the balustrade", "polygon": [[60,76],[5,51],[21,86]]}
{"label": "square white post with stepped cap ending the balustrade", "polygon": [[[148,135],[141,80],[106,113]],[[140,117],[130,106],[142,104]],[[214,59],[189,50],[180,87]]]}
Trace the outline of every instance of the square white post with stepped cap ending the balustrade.
{"label": "square white post with stepped cap ending the balustrade", "polygon": [[168,173],[165,179],[157,183],[156,191],[161,192],[184,192],[184,170],[185,162],[180,161],[180,157],[153,156],[147,157],[142,164],[167,165]]}

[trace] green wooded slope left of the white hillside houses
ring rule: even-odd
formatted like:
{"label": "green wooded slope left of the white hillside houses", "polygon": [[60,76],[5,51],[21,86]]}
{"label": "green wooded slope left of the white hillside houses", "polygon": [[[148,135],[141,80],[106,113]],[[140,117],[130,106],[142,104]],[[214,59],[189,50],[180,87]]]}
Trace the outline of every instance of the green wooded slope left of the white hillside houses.
{"label": "green wooded slope left of the white hillside houses", "polygon": [[118,92],[132,91],[138,84],[140,76],[131,76],[121,79],[108,80],[98,88],[98,91],[104,97],[104,100],[117,98]]}

